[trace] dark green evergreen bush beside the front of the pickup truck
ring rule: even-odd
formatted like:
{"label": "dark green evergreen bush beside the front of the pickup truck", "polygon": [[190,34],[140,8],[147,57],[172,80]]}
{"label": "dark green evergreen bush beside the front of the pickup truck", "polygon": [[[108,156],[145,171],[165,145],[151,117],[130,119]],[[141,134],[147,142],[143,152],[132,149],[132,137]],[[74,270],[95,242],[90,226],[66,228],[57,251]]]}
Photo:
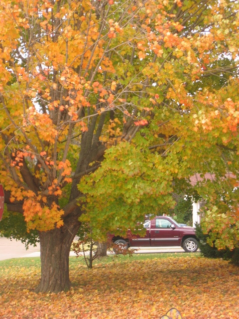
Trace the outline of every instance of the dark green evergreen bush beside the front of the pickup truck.
{"label": "dark green evergreen bush beside the front of the pickup truck", "polygon": [[225,260],[230,260],[232,264],[239,266],[239,248],[233,250],[228,248],[218,250],[215,246],[210,246],[207,243],[209,234],[204,234],[202,227],[199,224],[196,225],[196,236],[199,239],[199,249],[204,257],[223,258]]}

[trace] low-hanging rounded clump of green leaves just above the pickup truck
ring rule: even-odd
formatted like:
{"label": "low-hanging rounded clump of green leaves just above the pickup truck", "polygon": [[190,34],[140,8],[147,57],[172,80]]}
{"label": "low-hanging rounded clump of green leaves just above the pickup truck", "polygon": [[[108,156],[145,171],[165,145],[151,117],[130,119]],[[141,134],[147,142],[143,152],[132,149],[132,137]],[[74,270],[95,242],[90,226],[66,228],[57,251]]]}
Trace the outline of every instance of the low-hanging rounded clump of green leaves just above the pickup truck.
{"label": "low-hanging rounded clump of green leaves just above the pickup truck", "polygon": [[103,233],[117,228],[125,233],[145,214],[172,207],[172,175],[168,171],[164,176],[161,161],[157,154],[129,143],[109,149],[102,167],[78,185],[87,195],[81,220]]}

